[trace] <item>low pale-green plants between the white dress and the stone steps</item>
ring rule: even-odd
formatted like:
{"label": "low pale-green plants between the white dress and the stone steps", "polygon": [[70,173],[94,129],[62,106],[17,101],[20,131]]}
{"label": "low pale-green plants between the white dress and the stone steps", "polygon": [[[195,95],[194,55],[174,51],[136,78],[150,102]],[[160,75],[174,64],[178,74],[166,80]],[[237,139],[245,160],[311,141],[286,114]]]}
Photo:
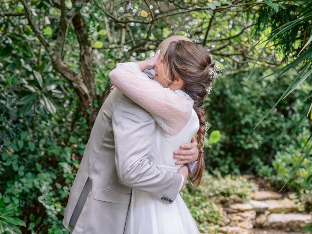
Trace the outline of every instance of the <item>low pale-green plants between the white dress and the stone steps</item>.
{"label": "low pale-green plants between the white dress and the stone steps", "polygon": [[241,176],[228,175],[223,178],[219,173],[215,174],[218,176],[204,172],[197,188],[187,187],[181,191],[200,233],[214,233],[218,227],[225,225],[228,219],[221,204],[247,201],[256,190],[253,183]]}

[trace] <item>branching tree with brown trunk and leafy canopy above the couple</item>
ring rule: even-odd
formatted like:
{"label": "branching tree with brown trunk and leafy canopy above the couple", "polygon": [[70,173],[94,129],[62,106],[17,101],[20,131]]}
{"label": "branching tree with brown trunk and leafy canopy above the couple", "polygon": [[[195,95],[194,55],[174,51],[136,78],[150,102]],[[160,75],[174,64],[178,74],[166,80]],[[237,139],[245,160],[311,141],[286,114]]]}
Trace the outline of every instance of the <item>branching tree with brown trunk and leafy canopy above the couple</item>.
{"label": "branching tree with brown trunk and leafy canopy above the couple", "polygon": [[[37,60],[36,70],[42,73],[42,58],[51,61],[54,70],[75,89],[80,110],[91,128],[98,107],[109,93],[107,71],[116,61],[126,61],[139,53],[146,56],[145,53],[155,50],[162,38],[169,35],[187,36],[211,48],[216,57],[228,58],[233,68],[231,73],[246,70],[242,65],[256,58],[253,52],[247,53],[251,48],[248,30],[254,22],[246,16],[255,14],[257,5],[265,3],[138,0],[103,4],[99,0],[6,0],[0,7],[0,25],[4,38],[12,36],[10,27],[23,25],[19,32],[14,31],[14,36],[26,40],[33,59]],[[215,28],[226,29],[216,32],[212,30]],[[29,37],[24,37],[25,34]],[[77,44],[79,50],[75,48]],[[261,61],[275,66],[267,59]]]}

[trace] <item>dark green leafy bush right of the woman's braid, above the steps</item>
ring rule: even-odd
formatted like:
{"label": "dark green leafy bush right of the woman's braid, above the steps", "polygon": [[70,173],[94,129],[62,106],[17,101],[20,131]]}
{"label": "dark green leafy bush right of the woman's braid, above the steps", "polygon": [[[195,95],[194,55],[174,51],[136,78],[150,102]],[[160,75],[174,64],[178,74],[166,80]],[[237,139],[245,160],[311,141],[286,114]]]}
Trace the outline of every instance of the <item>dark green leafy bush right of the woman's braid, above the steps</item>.
{"label": "dark green leafy bush right of the woman's braid, above the steps", "polygon": [[[271,165],[276,152],[282,151],[283,145],[290,140],[304,108],[298,99],[305,97],[310,87],[284,99],[254,129],[263,113],[268,112],[283,94],[293,75],[287,73],[279,83],[271,85],[273,78],[258,80],[268,72],[256,70],[250,78],[247,78],[248,73],[227,77],[220,74],[216,80],[205,104],[206,116],[211,123],[208,135],[214,135],[216,130],[221,133],[217,143],[205,144],[208,146],[205,153],[210,172],[218,168],[223,175],[252,173],[258,166]],[[302,125],[309,126],[308,118],[303,119]]]}

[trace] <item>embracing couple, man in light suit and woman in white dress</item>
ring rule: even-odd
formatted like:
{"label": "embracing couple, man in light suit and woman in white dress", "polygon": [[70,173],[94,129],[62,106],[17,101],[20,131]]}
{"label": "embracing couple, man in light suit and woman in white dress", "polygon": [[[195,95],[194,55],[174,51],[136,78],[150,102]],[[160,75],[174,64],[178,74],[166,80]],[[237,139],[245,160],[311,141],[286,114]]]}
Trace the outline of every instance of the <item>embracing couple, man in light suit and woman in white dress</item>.
{"label": "embracing couple, man in light suit and woman in white dress", "polygon": [[199,233],[179,191],[188,176],[199,184],[205,170],[203,102],[214,64],[182,36],[165,39],[153,57],[117,63],[109,73],[116,88],[98,113],[65,210],[71,234]]}

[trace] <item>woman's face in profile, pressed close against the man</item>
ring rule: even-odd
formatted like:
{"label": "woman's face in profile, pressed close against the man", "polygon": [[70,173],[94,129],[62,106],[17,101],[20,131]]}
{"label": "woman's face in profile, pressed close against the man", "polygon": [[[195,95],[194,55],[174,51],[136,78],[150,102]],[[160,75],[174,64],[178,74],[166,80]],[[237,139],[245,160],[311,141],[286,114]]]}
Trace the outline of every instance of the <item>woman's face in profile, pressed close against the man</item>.
{"label": "woman's face in profile, pressed close against the man", "polygon": [[[161,50],[160,50],[161,51]],[[158,83],[160,83],[163,87],[168,88],[172,81],[170,81],[167,64],[164,63],[165,51],[161,51],[158,60],[156,61],[153,69],[155,71],[154,80],[156,80]]]}

